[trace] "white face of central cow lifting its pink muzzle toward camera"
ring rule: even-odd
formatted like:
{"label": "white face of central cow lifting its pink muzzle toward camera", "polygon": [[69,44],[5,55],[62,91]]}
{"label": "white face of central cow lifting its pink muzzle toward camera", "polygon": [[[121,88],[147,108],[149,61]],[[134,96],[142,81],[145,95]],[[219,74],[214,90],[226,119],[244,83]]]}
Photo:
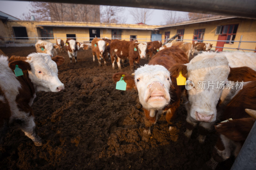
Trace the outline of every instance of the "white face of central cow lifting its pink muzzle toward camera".
{"label": "white face of central cow lifting its pink muzzle toward camera", "polygon": [[145,109],[162,109],[170,101],[170,72],[161,65],[147,65],[135,71],[135,85]]}

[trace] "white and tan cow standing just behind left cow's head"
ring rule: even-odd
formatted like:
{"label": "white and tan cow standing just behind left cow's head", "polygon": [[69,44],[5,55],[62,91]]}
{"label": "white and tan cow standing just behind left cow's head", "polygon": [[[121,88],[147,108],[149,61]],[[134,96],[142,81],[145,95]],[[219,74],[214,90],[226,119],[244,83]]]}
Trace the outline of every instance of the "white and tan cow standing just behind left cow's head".
{"label": "white and tan cow standing just behind left cow's head", "polygon": [[36,46],[37,53],[45,53],[50,55],[51,57],[57,55],[57,51],[55,48],[58,48],[58,46],[53,45],[51,42],[37,40],[35,46]]}

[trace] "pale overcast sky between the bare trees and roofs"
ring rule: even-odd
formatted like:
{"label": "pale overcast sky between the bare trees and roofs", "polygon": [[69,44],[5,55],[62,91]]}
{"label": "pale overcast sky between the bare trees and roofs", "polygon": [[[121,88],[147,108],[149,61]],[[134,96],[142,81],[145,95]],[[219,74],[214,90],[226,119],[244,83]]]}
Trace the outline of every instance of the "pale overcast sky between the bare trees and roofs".
{"label": "pale overcast sky between the bare trees and roofs", "polygon": [[[20,18],[21,14],[28,12],[29,1],[2,1],[0,0],[0,11],[3,11],[13,17]],[[146,24],[148,25],[164,25],[165,21],[163,18],[165,10],[154,10],[152,19]],[[128,16],[126,24],[136,24],[132,16],[128,12],[128,7],[125,8],[125,13]],[[184,15],[184,12],[180,12],[180,15]]]}

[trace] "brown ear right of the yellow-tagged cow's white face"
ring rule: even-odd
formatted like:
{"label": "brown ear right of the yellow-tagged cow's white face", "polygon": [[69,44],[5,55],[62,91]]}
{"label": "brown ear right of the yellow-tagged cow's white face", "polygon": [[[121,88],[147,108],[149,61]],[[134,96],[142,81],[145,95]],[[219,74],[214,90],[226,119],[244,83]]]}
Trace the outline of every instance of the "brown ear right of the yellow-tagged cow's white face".
{"label": "brown ear right of the yellow-tagged cow's white face", "polygon": [[234,82],[253,81],[256,80],[256,71],[252,70],[250,67],[230,68],[228,80]]}

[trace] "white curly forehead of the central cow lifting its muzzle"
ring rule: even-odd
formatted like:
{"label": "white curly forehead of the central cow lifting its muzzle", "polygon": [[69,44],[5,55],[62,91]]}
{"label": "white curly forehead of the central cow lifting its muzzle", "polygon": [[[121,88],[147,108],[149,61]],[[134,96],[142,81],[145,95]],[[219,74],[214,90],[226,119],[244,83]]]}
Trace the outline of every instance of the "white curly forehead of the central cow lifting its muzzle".
{"label": "white curly forehead of the central cow lifting its muzzle", "polygon": [[135,70],[135,82],[136,78],[140,78],[143,76],[144,78],[152,78],[155,76],[163,76],[163,77],[169,77],[170,72],[162,65],[148,65],[145,64],[144,66],[141,66],[137,70]]}

